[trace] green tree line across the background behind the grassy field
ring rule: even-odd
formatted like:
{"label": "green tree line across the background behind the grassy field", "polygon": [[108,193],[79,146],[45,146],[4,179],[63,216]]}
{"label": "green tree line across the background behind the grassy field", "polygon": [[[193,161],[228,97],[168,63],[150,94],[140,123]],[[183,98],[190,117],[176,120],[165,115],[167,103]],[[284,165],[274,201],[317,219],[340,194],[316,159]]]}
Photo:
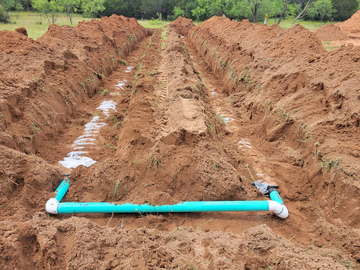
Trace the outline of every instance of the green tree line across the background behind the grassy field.
{"label": "green tree line across the background behind the grassy field", "polygon": [[[0,21],[9,21],[11,10],[37,10],[49,23],[66,12],[72,24],[74,13],[99,18],[112,14],[136,19],[167,20],[183,16],[203,21],[225,14],[230,19],[261,22],[265,14],[280,23],[285,18],[344,21],[360,8],[360,0],[0,0]],[[8,20],[6,20],[8,17]]]}

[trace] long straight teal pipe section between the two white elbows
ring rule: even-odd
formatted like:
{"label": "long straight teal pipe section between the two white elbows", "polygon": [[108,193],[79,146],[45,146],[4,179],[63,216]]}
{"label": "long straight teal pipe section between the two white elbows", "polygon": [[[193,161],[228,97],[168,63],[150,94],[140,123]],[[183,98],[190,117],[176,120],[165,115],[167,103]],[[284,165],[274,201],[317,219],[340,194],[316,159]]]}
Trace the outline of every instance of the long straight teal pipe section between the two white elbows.
{"label": "long straight teal pipe section between the two white elbows", "polygon": [[269,211],[268,201],[208,201],[181,202],[171,205],[115,204],[109,202],[64,202],[57,206],[58,214],[72,213],[171,213],[219,211]]}

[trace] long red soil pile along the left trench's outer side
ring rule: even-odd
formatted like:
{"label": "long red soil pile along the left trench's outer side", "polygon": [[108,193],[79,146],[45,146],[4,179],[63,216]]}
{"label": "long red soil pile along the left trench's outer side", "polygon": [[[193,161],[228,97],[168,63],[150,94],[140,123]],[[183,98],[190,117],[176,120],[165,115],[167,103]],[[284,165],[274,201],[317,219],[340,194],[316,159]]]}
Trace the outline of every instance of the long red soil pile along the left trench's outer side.
{"label": "long red soil pile along the left trench's outer side", "polygon": [[35,153],[54,139],[76,105],[147,35],[135,19],[116,15],[76,27],[51,24],[38,40],[23,28],[1,31],[0,144]]}

